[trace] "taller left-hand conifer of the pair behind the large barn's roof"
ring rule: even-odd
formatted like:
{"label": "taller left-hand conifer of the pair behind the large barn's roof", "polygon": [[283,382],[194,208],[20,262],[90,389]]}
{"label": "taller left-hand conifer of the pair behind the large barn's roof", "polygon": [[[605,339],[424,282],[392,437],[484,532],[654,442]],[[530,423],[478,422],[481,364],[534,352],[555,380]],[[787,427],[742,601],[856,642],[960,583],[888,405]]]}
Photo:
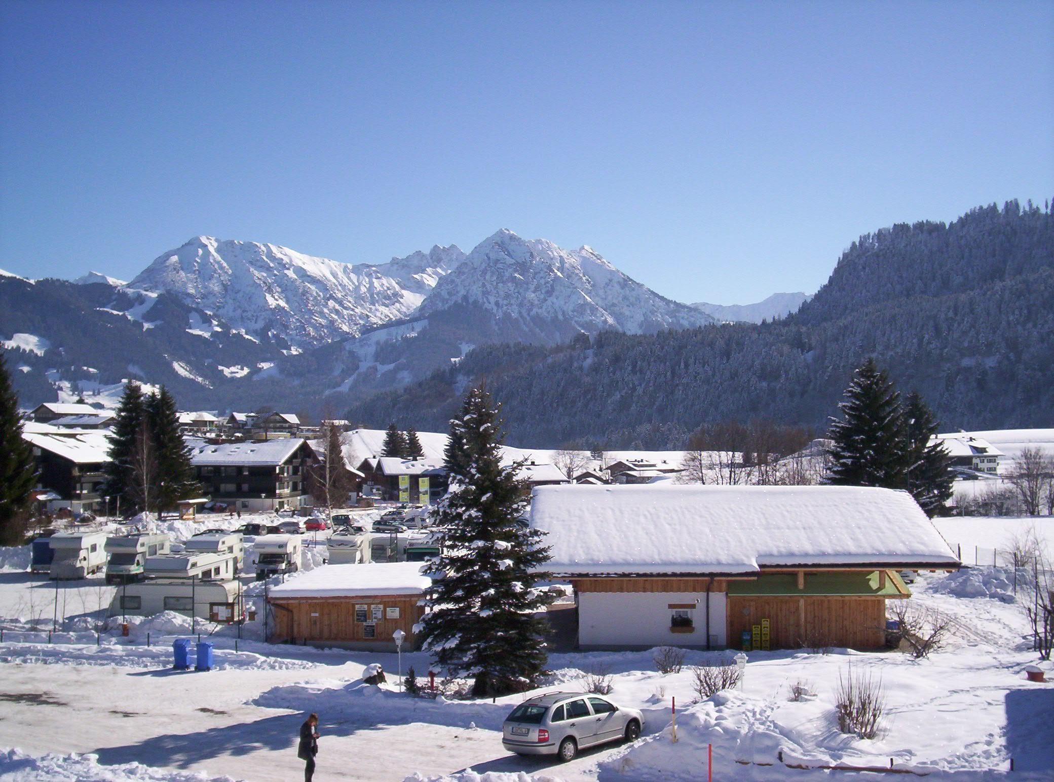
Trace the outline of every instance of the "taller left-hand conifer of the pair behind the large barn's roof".
{"label": "taller left-hand conifer of the pair behind the large barn's roof", "polygon": [[856,371],[845,398],[838,406],[842,419],[832,418],[827,430],[834,442],[824,483],[907,488],[900,394],[874,358]]}

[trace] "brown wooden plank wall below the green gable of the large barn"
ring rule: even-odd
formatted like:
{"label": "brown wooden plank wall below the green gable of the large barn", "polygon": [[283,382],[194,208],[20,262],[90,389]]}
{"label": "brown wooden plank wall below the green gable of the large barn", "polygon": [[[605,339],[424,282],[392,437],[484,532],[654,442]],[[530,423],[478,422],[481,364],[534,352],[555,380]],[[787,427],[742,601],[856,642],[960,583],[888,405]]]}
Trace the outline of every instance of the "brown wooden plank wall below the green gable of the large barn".
{"label": "brown wooden plank wall below the green gable of the large barn", "polygon": [[882,598],[728,598],[728,646],[762,619],[774,649],[847,646],[875,649],[885,643]]}

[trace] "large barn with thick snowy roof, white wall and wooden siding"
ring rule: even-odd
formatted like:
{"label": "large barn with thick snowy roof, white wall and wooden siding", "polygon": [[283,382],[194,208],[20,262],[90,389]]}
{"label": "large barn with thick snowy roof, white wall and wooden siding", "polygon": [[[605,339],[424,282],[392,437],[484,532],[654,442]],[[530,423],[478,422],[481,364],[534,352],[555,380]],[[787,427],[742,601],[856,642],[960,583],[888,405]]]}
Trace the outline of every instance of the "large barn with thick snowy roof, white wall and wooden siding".
{"label": "large barn with thick snowy roof, white wall and wooden siding", "polygon": [[531,524],[583,649],[882,646],[898,572],[959,562],[910,494],[843,486],[558,486]]}

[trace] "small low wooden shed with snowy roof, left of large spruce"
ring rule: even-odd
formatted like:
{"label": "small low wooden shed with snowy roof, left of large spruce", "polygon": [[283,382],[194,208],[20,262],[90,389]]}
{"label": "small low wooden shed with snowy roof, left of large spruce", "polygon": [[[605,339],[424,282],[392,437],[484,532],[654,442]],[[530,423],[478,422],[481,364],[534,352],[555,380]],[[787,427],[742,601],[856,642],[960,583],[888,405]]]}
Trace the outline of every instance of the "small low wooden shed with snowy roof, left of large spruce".
{"label": "small low wooden shed with snowy roof, left of large spruce", "polygon": [[404,648],[417,648],[414,625],[430,580],[419,562],[324,565],[270,590],[271,642],[294,641],[367,651],[395,651],[392,633],[406,633]]}

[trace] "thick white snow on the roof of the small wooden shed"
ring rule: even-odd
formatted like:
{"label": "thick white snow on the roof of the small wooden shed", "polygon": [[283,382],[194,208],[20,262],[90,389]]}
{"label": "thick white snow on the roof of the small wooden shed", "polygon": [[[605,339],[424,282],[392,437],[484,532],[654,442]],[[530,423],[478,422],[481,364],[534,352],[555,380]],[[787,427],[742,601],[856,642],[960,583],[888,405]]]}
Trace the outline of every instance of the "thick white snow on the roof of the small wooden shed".
{"label": "thick white snow on the roof of the small wooden shed", "polygon": [[432,583],[421,574],[421,568],[419,562],[323,565],[271,587],[271,598],[421,594]]}

